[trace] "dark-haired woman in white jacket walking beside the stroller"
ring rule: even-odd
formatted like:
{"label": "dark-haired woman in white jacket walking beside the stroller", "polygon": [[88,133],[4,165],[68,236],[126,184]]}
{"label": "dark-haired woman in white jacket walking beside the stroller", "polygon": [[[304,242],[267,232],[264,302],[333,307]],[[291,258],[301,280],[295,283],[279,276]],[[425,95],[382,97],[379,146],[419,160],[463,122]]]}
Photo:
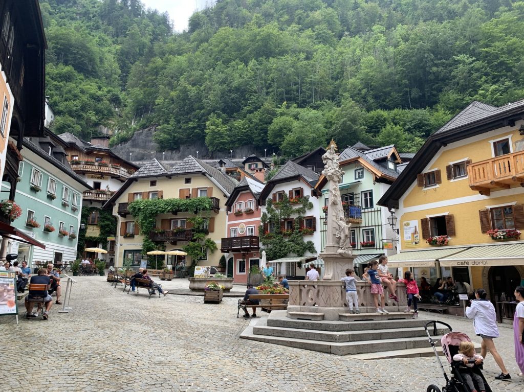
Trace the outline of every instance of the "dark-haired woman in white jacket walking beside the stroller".
{"label": "dark-haired woman in white jacket walking beside the stroller", "polygon": [[471,305],[466,308],[466,317],[473,319],[473,326],[475,327],[475,333],[482,338],[482,351],[481,355],[486,358],[487,350],[492,353],[495,362],[502,373],[495,378],[497,380],[508,380],[511,378],[508,369],[504,366],[504,361],[500,357],[493,338],[498,338],[497,328],[497,315],[495,313],[495,307],[493,304],[486,299],[487,293],[483,288],[479,288],[475,292],[476,300],[471,301]]}

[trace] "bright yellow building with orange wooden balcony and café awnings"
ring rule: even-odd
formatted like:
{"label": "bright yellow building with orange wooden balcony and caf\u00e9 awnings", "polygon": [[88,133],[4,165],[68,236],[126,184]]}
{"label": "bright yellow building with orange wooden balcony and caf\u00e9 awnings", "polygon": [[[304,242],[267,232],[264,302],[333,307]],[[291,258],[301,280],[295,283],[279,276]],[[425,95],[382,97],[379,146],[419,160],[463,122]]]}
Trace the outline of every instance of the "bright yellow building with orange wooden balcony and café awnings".
{"label": "bright yellow building with orange wooden balcony and caf\u00e9 awnings", "polygon": [[391,267],[513,296],[524,278],[524,100],[473,102],[433,133],[378,204],[398,217]]}

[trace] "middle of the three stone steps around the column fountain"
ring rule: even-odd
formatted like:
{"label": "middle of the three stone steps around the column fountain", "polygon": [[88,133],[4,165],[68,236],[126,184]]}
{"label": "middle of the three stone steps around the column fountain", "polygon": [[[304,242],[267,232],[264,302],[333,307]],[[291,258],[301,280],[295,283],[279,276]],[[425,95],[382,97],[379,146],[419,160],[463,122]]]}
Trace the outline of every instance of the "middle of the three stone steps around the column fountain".
{"label": "middle of the three stone steps around the column fountain", "polygon": [[[253,328],[253,333],[258,335],[274,336],[281,338],[296,338],[307,340],[319,340],[324,342],[362,342],[381,339],[408,339],[425,337],[424,329],[415,328],[395,328],[395,329],[376,329],[373,331],[314,331],[310,329],[298,328],[278,328],[268,327],[265,320],[260,320]],[[447,331],[439,330],[439,334]]]}

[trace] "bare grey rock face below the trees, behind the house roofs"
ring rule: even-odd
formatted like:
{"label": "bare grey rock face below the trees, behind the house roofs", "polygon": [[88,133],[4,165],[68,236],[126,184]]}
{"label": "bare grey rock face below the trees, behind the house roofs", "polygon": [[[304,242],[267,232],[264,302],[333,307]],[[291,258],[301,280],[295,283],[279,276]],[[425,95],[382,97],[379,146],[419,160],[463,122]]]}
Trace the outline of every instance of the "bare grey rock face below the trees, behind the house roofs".
{"label": "bare grey rock face below the trees, behind the house roofs", "polygon": [[[209,152],[208,148],[205,147],[203,142],[183,144],[178,150],[158,151],[159,147],[152,138],[155,129],[156,127],[149,127],[136,131],[130,140],[115,145],[112,147],[112,150],[123,159],[131,160],[133,162],[147,162],[153,158],[166,161],[182,160],[188,155],[196,156],[196,151],[198,151],[199,159],[220,159],[230,157],[230,151],[213,153]],[[273,149],[268,149],[267,156],[270,156],[272,152]],[[244,145],[241,148],[236,148],[233,150],[233,158],[243,158],[250,154],[256,154],[260,157],[263,157],[264,153],[264,150],[261,152],[256,151],[252,145]]]}

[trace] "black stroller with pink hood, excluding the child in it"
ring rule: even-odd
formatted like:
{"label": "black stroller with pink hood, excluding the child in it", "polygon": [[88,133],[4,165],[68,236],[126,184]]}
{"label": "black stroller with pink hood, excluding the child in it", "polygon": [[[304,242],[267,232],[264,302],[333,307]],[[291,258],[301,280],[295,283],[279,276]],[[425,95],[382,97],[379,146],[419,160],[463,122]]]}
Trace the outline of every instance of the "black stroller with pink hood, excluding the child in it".
{"label": "black stroller with pink hood, excluding the child in it", "polygon": [[[440,360],[439,353],[436,351],[436,345],[435,341],[431,339],[430,331],[428,330],[428,326],[431,326],[433,324],[433,336],[438,335],[438,330],[436,328],[436,324],[443,324],[447,329],[450,330],[449,333],[446,333],[442,339],[442,351],[444,355],[446,356],[447,362],[451,364],[450,372],[451,372],[451,378],[449,378],[446,374],[446,371],[444,370],[444,365],[442,364],[442,361]],[[459,365],[460,362],[453,361],[453,355],[459,353],[459,345],[463,341],[471,342],[470,337],[466,335],[463,332],[453,332],[451,329],[451,326],[449,324],[446,324],[442,321],[430,321],[425,324],[424,329],[426,331],[426,334],[429,338],[429,343],[433,347],[433,351],[435,352],[436,359],[439,361],[440,368],[442,369],[442,373],[444,374],[444,378],[446,380],[446,385],[442,387],[442,392],[470,392],[467,385],[464,383],[464,379],[459,371]],[[484,380],[484,386],[486,387],[486,392],[492,392],[492,389],[489,387],[488,383],[486,382],[486,378],[481,372],[482,364],[481,365],[474,365],[472,368],[472,372],[477,373],[479,376],[482,377]],[[436,385],[430,385],[426,392],[441,392],[441,389],[439,389]]]}

